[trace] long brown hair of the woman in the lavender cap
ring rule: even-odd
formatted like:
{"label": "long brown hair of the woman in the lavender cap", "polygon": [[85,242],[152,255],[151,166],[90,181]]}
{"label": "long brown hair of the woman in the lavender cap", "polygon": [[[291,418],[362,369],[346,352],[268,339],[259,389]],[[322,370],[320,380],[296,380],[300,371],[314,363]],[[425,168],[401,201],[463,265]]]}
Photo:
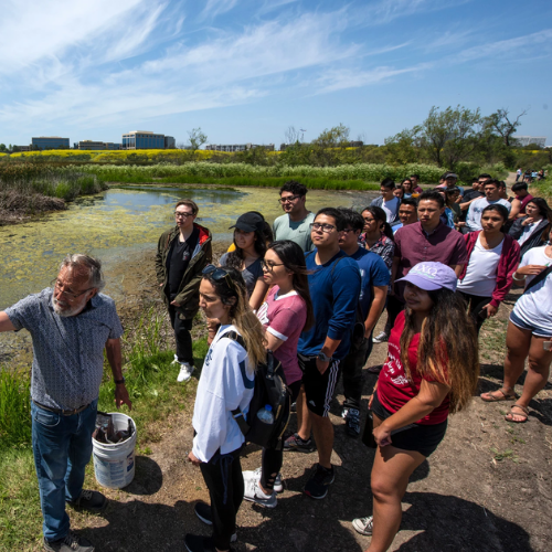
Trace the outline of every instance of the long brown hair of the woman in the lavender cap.
{"label": "long brown hair of the woman in the lavender cap", "polygon": [[[450,413],[465,408],[477,389],[479,352],[474,322],[464,299],[449,289],[427,291],[433,307],[422,323],[417,348],[417,373],[450,388]],[[414,337],[414,317],[405,309],[401,336],[401,361],[412,381],[408,346]]]}

